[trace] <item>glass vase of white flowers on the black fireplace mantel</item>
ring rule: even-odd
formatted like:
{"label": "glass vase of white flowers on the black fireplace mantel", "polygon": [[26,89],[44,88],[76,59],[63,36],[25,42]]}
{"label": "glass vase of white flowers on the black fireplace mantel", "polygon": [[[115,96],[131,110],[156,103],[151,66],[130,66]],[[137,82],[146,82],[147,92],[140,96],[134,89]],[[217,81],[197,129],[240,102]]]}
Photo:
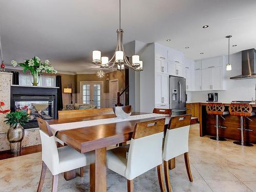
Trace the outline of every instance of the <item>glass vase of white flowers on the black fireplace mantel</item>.
{"label": "glass vase of white flowers on the black fireplace mantel", "polygon": [[12,60],[12,65],[14,67],[22,67],[23,73],[29,70],[33,86],[37,86],[37,84],[39,83],[40,75],[42,74],[42,72],[54,74],[57,73],[57,71],[50,65],[49,60],[41,62],[41,60],[36,56],[32,59],[25,59],[23,62],[20,63],[17,63],[17,61]]}

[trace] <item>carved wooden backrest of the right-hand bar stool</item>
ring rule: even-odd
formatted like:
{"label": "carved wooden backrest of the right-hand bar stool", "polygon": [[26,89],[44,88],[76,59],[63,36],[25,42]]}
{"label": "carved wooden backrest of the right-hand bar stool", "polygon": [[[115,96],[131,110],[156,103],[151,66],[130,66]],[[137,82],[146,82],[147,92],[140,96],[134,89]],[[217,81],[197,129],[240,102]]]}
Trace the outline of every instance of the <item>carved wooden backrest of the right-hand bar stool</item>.
{"label": "carved wooden backrest of the right-hand bar stool", "polygon": [[230,115],[236,116],[250,116],[252,107],[249,103],[230,103],[229,105]]}

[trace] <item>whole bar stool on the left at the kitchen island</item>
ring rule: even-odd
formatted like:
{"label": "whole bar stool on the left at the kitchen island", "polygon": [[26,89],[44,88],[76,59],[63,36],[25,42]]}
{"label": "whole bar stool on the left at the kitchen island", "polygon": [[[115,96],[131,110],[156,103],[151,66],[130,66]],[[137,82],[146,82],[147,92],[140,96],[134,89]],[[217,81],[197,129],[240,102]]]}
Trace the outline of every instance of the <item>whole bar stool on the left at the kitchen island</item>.
{"label": "whole bar stool on the left at the kitchen island", "polygon": [[214,139],[217,141],[226,141],[225,138],[219,137],[219,128],[227,128],[225,126],[220,126],[219,124],[219,115],[221,116],[221,118],[223,118],[225,120],[225,118],[223,117],[223,115],[228,115],[229,112],[228,111],[224,111],[225,110],[225,106],[223,105],[223,103],[217,103],[217,102],[209,102],[206,105],[206,112],[209,115],[216,115],[216,120],[215,120],[215,126],[216,126],[216,137],[210,137],[210,139]]}

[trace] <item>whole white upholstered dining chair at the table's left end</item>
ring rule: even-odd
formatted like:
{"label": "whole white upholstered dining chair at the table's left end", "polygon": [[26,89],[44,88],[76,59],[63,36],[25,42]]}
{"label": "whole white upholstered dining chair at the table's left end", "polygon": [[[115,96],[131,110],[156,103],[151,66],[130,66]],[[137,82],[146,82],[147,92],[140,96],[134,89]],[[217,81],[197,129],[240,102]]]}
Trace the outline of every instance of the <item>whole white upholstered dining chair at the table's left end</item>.
{"label": "whole white upholstered dining chair at the table's left end", "polygon": [[53,175],[52,191],[57,191],[58,174],[90,164],[90,154],[81,154],[70,146],[58,147],[47,121],[37,118],[42,146],[42,170],[37,192],[41,191],[46,168]]}

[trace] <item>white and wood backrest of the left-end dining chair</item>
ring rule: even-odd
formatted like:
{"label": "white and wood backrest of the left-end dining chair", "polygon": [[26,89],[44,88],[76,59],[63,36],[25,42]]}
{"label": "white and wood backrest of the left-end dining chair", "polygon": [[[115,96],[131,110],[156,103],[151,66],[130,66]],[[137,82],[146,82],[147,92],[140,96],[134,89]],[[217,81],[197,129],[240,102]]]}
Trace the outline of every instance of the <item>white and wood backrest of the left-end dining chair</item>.
{"label": "white and wood backrest of the left-end dining chair", "polygon": [[37,118],[39,133],[42,145],[42,161],[45,162],[51,173],[58,172],[59,155],[55,137],[50,131],[50,125],[47,121]]}

